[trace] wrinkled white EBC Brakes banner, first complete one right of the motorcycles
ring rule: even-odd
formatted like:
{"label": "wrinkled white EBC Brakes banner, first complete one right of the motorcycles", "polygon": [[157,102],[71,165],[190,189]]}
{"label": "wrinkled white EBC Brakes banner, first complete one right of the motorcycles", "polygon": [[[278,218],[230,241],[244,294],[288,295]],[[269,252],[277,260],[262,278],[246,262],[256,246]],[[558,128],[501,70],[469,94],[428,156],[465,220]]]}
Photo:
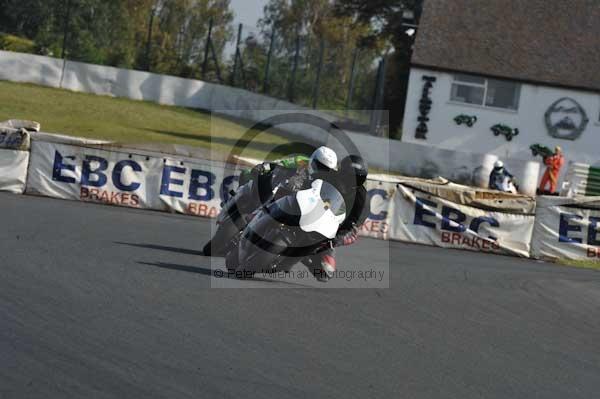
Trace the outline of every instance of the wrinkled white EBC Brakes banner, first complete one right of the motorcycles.
{"label": "wrinkled white EBC Brakes banner, first complete one right of the motorcycles", "polygon": [[529,257],[533,215],[458,205],[399,184],[390,213],[390,239]]}

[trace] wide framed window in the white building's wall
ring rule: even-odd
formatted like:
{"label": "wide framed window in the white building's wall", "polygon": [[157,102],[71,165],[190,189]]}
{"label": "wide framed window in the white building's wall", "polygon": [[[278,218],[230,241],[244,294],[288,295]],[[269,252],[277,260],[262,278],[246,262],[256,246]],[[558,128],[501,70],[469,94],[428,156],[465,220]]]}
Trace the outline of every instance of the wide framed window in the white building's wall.
{"label": "wide framed window in the white building's wall", "polygon": [[450,100],[485,107],[517,110],[521,86],[506,80],[455,75]]}

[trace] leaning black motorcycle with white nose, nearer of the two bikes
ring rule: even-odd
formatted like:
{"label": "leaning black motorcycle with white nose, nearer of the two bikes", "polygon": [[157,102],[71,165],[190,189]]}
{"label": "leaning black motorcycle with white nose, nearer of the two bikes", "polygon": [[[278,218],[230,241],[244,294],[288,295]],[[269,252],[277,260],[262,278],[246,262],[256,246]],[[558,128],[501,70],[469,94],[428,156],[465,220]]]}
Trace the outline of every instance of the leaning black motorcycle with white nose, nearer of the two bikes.
{"label": "leaning black motorcycle with white nose, nearer of the two bikes", "polygon": [[[234,230],[237,226],[231,213],[223,221],[227,229]],[[309,189],[285,193],[252,214],[247,226],[223,245],[227,269],[288,271],[299,259],[327,248],[345,218],[346,204],[340,191],[315,180]],[[224,235],[225,229],[222,232]],[[218,234],[213,237],[213,249]]]}

